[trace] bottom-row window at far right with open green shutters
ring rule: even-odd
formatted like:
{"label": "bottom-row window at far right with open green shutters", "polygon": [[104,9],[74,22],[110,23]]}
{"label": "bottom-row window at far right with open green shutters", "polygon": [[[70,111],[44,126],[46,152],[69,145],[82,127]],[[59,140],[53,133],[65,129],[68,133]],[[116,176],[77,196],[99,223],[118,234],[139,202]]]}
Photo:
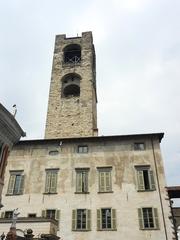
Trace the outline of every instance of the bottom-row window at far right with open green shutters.
{"label": "bottom-row window at far right with open green shutters", "polygon": [[139,208],[140,229],[159,229],[157,208]]}

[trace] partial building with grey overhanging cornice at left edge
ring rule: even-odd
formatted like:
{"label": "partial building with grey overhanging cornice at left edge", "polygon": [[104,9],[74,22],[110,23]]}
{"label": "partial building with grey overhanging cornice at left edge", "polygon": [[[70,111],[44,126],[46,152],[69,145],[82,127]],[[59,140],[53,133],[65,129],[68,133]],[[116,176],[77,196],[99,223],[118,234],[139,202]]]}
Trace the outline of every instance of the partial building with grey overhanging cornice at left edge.
{"label": "partial building with grey overhanging cornice at left edge", "polygon": [[14,116],[0,103],[0,207],[1,194],[4,185],[4,173],[7,158],[13,144],[17,143],[25,133]]}

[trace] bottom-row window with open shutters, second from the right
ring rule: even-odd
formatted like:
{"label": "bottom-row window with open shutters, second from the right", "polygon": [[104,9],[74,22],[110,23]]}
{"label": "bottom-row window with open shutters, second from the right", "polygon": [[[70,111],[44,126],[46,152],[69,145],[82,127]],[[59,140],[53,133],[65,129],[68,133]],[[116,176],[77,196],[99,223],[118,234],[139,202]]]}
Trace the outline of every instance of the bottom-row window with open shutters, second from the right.
{"label": "bottom-row window with open shutters, second from the right", "polygon": [[102,208],[97,210],[97,229],[116,230],[116,210]]}

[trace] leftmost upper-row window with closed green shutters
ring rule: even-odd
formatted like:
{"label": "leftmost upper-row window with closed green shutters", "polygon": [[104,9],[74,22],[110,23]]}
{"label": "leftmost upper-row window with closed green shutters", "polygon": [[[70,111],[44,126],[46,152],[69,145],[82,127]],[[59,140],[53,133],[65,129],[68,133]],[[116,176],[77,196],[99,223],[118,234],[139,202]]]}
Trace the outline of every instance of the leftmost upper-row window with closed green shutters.
{"label": "leftmost upper-row window with closed green shutters", "polygon": [[8,184],[8,195],[23,194],[24,189],[24,175],[23,171],[11,171]]}

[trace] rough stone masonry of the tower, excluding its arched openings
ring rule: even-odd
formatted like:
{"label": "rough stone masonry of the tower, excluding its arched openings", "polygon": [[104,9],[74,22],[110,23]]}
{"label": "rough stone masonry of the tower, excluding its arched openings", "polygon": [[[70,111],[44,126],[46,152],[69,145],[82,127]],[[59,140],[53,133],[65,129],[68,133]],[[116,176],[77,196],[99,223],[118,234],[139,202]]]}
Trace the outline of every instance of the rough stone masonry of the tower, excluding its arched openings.
{"label": "rough stone masonry of the tower, excluding its arched openings", "polygon": [[[81,46],[80,64],[63,63],[63,49],[70,44]],[[62,78],[69,73],[81,77],[79,97],[61,97]],[[94,77],[92,33],[86,32],[77,38],[56,36],[45,138],[94,135],[97,128]]]}

